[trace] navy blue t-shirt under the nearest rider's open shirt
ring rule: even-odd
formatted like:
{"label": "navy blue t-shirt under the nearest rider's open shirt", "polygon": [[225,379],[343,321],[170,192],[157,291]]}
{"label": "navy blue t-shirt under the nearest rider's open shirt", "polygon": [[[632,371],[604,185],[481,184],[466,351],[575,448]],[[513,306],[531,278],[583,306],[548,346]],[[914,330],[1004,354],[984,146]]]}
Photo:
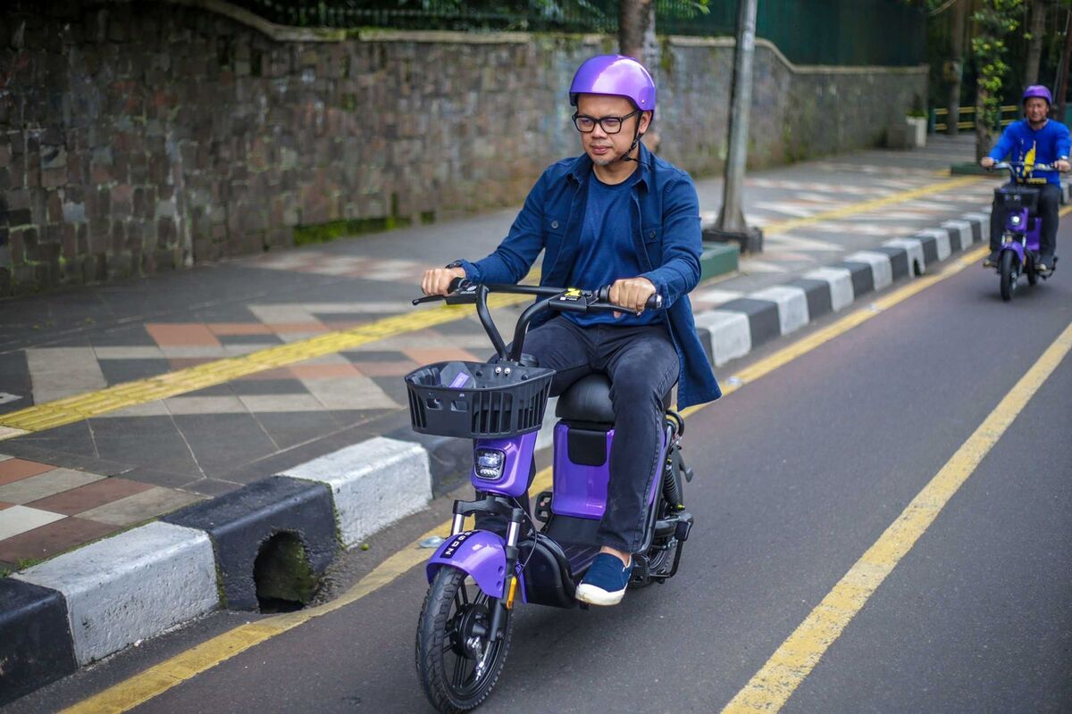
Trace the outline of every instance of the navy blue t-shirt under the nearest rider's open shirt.
{"label": "navy blue t-shirt under the nearest rider's open shirt", "polygon": [[[632,241],[632,199],[630,185],[639,177],[619,184],[606,184],[595,173],[589,181],[577,262],[569,273],[569,287],[596,290],[614,280],[637,277],[644,272]],[[657,310],[644,310],[640,317],[625,313],[614,319],[611,313],[564,313],[580,325],[610,323],[620,325],[654,324],[661,321]]]}

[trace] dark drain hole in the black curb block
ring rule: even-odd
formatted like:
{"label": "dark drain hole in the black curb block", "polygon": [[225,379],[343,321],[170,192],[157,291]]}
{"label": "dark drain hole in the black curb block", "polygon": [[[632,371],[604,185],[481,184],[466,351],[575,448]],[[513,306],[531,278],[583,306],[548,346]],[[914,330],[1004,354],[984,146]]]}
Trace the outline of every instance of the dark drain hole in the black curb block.
{"label": "dark drain hole in the black curb block", "polygon": [[273,533],[260,544],[253,562],[253,582],[262,612],[300,610],[313,598],[318,580],[297,533]]}

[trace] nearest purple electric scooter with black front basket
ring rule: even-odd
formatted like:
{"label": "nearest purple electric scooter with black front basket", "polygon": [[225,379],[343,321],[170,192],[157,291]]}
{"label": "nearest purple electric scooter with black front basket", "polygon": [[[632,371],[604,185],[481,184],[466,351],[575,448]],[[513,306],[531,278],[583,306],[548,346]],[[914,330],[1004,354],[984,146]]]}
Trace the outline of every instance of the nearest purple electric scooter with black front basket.
{"label": "nearest purple electric scooter with black front basket", "polygon": [[[477,499],[455,502],[450,537],[426,566],[430,587],[417,626],[417,673],[441,712],[468,711],[491,693],[506,662],[519,599],[586,607],[574,595],[599,552],[596,529],[606,506],[614,439],[610,382],[590,375],[559,397],[553,487],[536,499],[537,525],[521,499],[534,475],[536,435],[554,370],[539,367],[522,349],[530,322],[546,310],[623,312],[609,303],[608,291],[459,279],[445,299],[413,301],[475,303],[496,352],[489,363],[440,362],[405,377],[416,431],[474,440],[470,478]],[[509,352],[488,310],[490,292],[537,297],[518,319]],[[661,300],[653,298],[649,306],[657,309]],[[672,577],[693,526],[682,498],[682,482],[693,477],[681,457],[685,424],[669,408],[666,414],[631,587]],[[465,530],[466,516],[476,517],[476,529]]]}

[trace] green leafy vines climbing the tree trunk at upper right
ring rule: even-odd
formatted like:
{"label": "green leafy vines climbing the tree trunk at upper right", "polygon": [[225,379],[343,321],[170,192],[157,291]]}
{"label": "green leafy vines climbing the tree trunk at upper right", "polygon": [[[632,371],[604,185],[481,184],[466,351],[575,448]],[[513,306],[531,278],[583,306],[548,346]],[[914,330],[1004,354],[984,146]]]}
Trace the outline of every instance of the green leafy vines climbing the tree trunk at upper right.
{"label": "green leafy vines climbing the tree trunk at upper right", "polygon": [[972,16],[977,34],[971,39],[971,54],[979,70],[978,88],[982,96],[982,117],[986,126],[997,126],[1000,119],[1001,88],[1011,67],[1006,62],[1009,47],[1006,37],[1021,26],[1024,0],[983,0]]}

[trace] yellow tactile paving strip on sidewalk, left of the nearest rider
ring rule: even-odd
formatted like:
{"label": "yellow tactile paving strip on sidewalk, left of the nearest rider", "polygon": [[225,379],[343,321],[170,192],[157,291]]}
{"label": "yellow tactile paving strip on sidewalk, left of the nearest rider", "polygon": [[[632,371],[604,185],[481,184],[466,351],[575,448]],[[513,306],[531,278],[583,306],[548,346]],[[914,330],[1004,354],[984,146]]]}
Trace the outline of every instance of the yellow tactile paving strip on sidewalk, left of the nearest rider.
{"label": "yellow tactile paving strip on sidewalk, left of the nearest rider", "polygon": [[[528,295],[491,295],[491,307],[503,307],[525,300]],[[187,392],[222,384],[266,369],[283,367],[325,354],[354,349],[406,332],[416,332],[445,322],[460,320],[473,313],[472,306],[441,306],[376,320],[351,330],[329,332],[278,347],[269,347],[241,356],[206,362],[185,369],[165,373],[132,382],[116,384],[96,392],[87,392],[62,399],[13,411],[0,416],[0,440],[28,431],[50,429],[84,419],[100,416],[147,401],[174,397]]]}

